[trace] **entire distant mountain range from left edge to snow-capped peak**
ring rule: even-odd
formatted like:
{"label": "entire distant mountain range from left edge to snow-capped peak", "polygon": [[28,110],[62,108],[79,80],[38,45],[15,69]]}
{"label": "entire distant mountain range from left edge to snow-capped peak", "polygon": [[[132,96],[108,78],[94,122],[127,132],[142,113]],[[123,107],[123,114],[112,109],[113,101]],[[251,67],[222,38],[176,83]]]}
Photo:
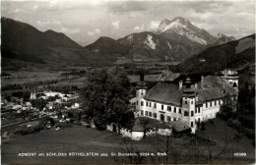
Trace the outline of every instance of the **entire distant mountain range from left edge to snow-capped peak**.
{"label": "entire distant mountain range from left edge to snow-capped peak", "polygon": [[232,36],[214,36],[176,17],[163,20],[157,31],[132,33],[117,40],[101,36],[85,47],[64,33],[44,32],[21,22],[1,18],[2,57],[31,62],[70,64],[114,63],[120,57],[133,61],[184,61],[211,46],[232,41]]}

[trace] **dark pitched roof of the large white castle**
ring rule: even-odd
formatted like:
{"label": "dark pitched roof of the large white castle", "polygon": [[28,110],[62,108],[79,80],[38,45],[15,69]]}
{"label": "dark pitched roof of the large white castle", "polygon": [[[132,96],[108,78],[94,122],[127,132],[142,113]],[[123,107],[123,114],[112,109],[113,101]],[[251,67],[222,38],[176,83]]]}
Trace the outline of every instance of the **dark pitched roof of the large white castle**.
{"label": "dark pitched roof of the large white castle", "polygon": [[[233,95],[233,87],[224,79],[216,76],[208,76],[195,88],[186,88],[184,85],[179,88],[178,84],[157,83],[147,91],[145,99],[165,104],[181,105],[182,96],[195,96],[198,94],[197,104],[202,104],[207,100],[223,98],[225,94]],[[185,91],[185,92],[183,92]]]}

